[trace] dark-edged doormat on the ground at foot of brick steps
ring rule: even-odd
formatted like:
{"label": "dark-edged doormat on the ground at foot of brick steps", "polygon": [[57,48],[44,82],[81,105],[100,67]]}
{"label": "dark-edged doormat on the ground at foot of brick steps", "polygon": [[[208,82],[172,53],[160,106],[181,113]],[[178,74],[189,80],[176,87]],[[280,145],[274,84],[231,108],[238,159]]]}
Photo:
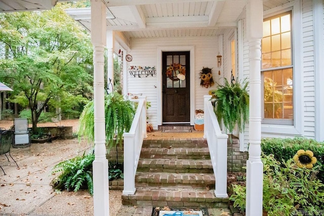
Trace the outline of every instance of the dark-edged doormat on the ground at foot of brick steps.
{"label": "dark-edged doormat on the ground at foot of brick steps", "polygon": [[152,216],[209,216],[208,208],[153,207]]}

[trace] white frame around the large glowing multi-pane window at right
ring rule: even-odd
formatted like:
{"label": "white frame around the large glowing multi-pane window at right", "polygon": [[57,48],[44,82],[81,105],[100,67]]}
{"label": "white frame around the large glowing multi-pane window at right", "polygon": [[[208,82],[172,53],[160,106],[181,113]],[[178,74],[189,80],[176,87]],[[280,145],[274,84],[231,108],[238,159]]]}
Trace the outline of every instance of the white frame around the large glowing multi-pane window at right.
{"label": "white frame around the large glowing multi-pane window at right", "polygon": [[292,11],[292,49],[293,49],[293,80],[294,80],[294,124],[261,124],[262,134],[278,134],[302,136],[302,113],[303,113],[303,91],[302,91],[302,28],[300,1],[291,2],[280,7],[272,8],[263,12],[264,18]]}

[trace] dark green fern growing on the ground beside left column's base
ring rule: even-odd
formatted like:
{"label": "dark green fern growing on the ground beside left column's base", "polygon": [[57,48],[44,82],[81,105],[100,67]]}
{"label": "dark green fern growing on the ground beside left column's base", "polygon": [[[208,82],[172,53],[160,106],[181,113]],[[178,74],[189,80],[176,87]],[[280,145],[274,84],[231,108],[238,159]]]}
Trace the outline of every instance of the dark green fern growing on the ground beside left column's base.
{"label": "dark green fern growing on the ground beside left column's base", "polygon": [[56,192],[63,189],[67,191],[78,191],[88,188],[93,194],[92,162],[95,159],[93,153],[76,156],[72,159],[62,161],[53,167],[52,174],[60,172],[60,175],[52,180],[51,184]]}

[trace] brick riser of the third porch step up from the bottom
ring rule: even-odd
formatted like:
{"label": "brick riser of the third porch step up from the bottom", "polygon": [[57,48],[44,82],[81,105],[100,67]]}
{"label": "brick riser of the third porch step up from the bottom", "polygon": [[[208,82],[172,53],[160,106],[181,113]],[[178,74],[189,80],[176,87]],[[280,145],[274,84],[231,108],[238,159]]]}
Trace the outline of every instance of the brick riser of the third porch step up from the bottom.
{"label": "brick riser of the third porch step up from the bottom", "polygon": [[172,172],[172,173],[213,173],[213,168],[148,168],[148,167],[137,167],[139,172]]}

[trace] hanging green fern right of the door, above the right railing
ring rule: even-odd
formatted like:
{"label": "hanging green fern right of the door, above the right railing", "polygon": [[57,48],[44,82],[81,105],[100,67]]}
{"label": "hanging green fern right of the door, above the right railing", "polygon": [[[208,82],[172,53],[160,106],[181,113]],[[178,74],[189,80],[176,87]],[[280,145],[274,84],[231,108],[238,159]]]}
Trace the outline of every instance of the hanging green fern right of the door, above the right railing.
{"label": "hanging green fern right of the door, above the right railing", "polygon": [[241,87],[238,80],[235,83],[229,83],[226,78],[224,80],[224,85],[219,85],[217,90],[211,92],[216,98],[215,114],[219,120],[223,119],[230,133],[233,132],[236,123],[239,132],[242,132],[249,120],[249,83],[245,82]]}

